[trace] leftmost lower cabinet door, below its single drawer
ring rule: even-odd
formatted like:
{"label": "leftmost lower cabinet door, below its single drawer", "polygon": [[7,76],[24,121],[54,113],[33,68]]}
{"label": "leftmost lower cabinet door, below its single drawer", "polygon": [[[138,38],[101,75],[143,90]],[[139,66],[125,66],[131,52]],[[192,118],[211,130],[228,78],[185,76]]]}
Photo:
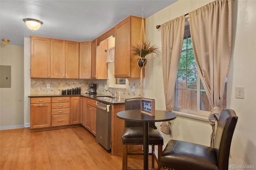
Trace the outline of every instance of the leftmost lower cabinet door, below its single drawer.
{"label": "leftmost lower cabinet door, below its single drawer", "polygon": [[44,128],[51,126],[51,104],[30,105],[30,128]]}

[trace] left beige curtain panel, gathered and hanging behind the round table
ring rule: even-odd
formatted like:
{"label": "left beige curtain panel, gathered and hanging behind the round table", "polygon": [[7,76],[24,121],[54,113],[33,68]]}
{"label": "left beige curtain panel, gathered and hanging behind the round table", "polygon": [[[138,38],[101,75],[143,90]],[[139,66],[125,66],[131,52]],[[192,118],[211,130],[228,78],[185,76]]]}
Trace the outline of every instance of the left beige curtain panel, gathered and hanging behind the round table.
{"label": "left beige curtain panel, gathered and hanging behind the round table", "polygon": [[[185,30],[185,16],[161,25],[162,65],[166,111],[172,111],[172,100]],[[172,136],[171,123],[163,122],[161,131]]]}

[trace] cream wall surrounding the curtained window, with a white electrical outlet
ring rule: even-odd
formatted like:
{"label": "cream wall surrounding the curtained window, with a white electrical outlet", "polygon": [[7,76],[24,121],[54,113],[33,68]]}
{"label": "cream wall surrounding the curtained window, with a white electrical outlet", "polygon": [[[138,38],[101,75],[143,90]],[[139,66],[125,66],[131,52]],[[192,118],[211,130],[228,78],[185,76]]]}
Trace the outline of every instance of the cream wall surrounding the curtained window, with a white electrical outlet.
{"label": "cream wall surrounding the curtained window, with a white electrical outlet", "polygon": [[[161,28],[156,25],[187,14],[205,4],[206,0],[180,0],[146,18],[146,37],[161,47]],[[232,54],[228,71],[227,108],[234,109],[238,123],[234,132],[229,164],[256,167],[256,1],[232,1]],[[161,59],[149,59],[144,79],[144,94],[156,100],[156,109],[165,109]],[[245,98],[235,98],[235,87],[245,87]],[[158,123],[158,129],[160,129]],[[202,121],[177,117],[173,138],[210,145],[211,126]],[[164,144],[170,137],[164,136]],[[164,145],[165,147],[165,145]]]}

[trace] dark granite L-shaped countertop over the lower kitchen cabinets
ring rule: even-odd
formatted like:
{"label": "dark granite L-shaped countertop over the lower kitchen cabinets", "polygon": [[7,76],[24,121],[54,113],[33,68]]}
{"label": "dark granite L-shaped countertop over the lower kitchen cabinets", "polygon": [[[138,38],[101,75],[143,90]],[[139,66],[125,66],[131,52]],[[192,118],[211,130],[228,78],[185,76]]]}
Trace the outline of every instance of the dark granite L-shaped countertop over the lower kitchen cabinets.
{"label": "dark granite L-shaped countertop over the lower kitchen cabinets", "polygon": [[28,97],[74,97],[74,96],[78,96],[78,97],[86,97],[86,98],[89,98],[89,99],[93,99],[93,100],[96,100],[96,101],[100,101],[100,102],[103,102],[103,103],[108,103],[110,105],[123,105],[124,104],[124,101],[125,101],[125,98],[120,98],[120,101],[118,101],[118,97],[112,99],[112,98],[109,98],[109,99],[98,99],[97,97],[99,96],[106,96],[106,95],[103,95],[103,94],[95,94],[93,96],[89,95],[89,94],[86,94],[86,93],[81,93],[80,95],[62,95],[62,94],[31,94],[31,95],[28,95]]}

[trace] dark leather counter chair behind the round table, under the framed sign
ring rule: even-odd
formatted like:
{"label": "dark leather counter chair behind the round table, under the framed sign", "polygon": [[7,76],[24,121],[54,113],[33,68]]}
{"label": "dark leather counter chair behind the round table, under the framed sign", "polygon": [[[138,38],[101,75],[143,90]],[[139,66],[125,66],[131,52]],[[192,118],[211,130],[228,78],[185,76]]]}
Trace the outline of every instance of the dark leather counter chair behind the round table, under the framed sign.
{"label": "dark leather counter chair behind the round table, under the framed sign", "polygon": [[[133,109],[140,109],[140,100],[141,98],[133,98],[133,99],[126,99],[125,100],[125,110],[133,110]],[[130,152],[128,151],[128,145],[143,145],[143,123],[141,122],[132,122],[132,121],[125,121],[124,123],[124,132],[122,134],[122,144],[123,144],[123,170],[129,170],[127,160],[128,155],[143,155],[143,153],[138,152]],[[158,162],[158,170],[160,170],[160,162],[159,157],[162,153],[162,148],[164,144],[164,140],[162,135],[156,130],[156,126],[154,123],[149,123],[148,128],[148,144],[152,145],[152,168],[154,168],[154,162]],[[158,145],[158,158],[154,152],[155,145]]]}

